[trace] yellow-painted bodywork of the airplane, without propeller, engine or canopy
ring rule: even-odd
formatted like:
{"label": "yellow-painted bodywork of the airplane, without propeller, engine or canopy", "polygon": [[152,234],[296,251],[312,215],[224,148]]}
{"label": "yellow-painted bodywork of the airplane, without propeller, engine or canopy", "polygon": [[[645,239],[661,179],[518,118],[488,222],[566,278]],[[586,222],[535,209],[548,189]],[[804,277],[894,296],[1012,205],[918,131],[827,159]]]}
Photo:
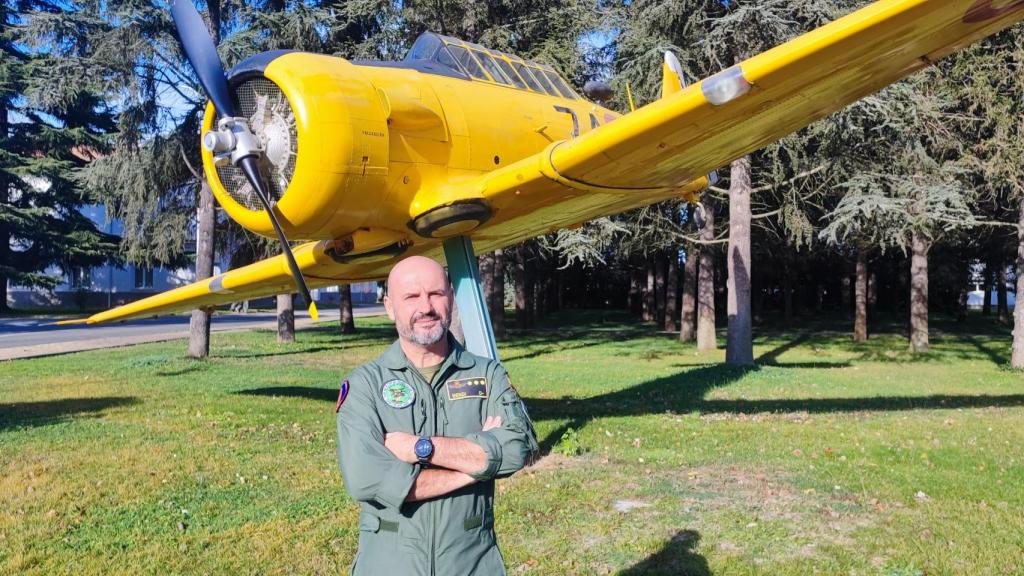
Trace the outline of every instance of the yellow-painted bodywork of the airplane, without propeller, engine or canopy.
{"label": "yellow-painted bodywork of the airplane, without propeller, engine or canopy", "polygon": [[[411,222],[453,203],[490,208],[469,232],[486,252],[668,198],[692,201],[702,174],[1022,17],[1022,0],[882,0],[741,63],[753,87],[732,101],[709,102],[705,80],[622,117],[489,80],[290,53],[265,71],[299,125],[295,176],[275,209],[291,238],[314,240],[296,259],[316,288],[382,278],[402,255],[442,257],[440,240]],[[265,214],[224,192],[209,154],[204,165],[227,213],[272,234]],[[88,321],[291,291],[279,256]]]}

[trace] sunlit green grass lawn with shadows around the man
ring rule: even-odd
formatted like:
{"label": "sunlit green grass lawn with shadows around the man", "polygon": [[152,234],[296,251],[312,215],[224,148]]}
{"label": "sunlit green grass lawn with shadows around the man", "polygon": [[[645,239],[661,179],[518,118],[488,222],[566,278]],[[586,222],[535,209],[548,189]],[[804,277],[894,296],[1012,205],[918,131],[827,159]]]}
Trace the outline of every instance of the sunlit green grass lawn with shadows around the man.
{"label": "sunlit green grass lawn with shadows around the man", "polygon": [[[338,574],[341,378],[384,319],[0,363],[0,574]],[[562,328],[559,328],[562,326]],[[756,370],[620,314],[500,344],[546,451],[499,484],[510,574],[1024,574],[1010,335],[757,331]]]}

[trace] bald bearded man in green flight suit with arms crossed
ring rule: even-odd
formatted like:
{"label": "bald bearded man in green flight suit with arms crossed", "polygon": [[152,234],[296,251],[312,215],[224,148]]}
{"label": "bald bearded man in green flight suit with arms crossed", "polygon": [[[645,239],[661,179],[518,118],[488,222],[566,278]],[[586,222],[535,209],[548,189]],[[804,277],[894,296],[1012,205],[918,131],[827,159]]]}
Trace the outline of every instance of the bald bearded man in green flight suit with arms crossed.
{"label": "bald bearded man in green flight suit with arms crossed", "polygon": [[338,397],[338,459],[360,503],[353,575],[505,574],[495,479],[537,455],[532,423],[497,361],[449,333],[444,270],[412,256],[388,276],[398,339]]}

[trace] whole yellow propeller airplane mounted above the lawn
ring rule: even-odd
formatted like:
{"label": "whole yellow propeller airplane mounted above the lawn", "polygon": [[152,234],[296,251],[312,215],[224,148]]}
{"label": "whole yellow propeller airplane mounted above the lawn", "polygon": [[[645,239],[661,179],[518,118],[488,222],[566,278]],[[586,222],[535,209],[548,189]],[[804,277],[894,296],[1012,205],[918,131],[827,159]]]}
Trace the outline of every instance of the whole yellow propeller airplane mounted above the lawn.
{"label": "whole yellow propeller airplane mounted above the lawn", "polygon": [[[175,9],[204,79],[215,66],[186,30],[202,23]],[[379,279],[404,255],[439,258],[445,238],[489,251],[693,202],[712,170],[1022,18],[1024,0],[882,0],[685,88],[669,56],[662,98],[622,116],[550,67],[436,34],[401,61],[262,53],[227,76],[232,101],[204,80],[203,164],[243,227],[310,241],[295,269],[286,249],[85,322]]]}

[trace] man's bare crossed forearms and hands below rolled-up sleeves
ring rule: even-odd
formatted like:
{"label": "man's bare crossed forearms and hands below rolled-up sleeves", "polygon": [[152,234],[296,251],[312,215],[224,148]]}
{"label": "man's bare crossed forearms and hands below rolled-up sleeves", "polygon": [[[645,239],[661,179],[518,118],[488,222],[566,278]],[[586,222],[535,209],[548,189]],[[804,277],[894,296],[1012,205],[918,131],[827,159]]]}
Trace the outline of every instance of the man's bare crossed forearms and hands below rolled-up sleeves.
{"label": "man's bare crossed forearms and hands below rolled-up sleeves", "polygon": [[[483,431],[501,427],[501,416],[488,416]],[[419,437],[408,433],[387,433],[384,446],[399,460],[418,461],[413,447]],[[433,437],[434,453],[430,464],[434,467],[421,470],[406,496],[407,502],[426,500],[455,492],[476,482],[470,475],[483,468],[487,454],[477,444],[463,438]]]}

